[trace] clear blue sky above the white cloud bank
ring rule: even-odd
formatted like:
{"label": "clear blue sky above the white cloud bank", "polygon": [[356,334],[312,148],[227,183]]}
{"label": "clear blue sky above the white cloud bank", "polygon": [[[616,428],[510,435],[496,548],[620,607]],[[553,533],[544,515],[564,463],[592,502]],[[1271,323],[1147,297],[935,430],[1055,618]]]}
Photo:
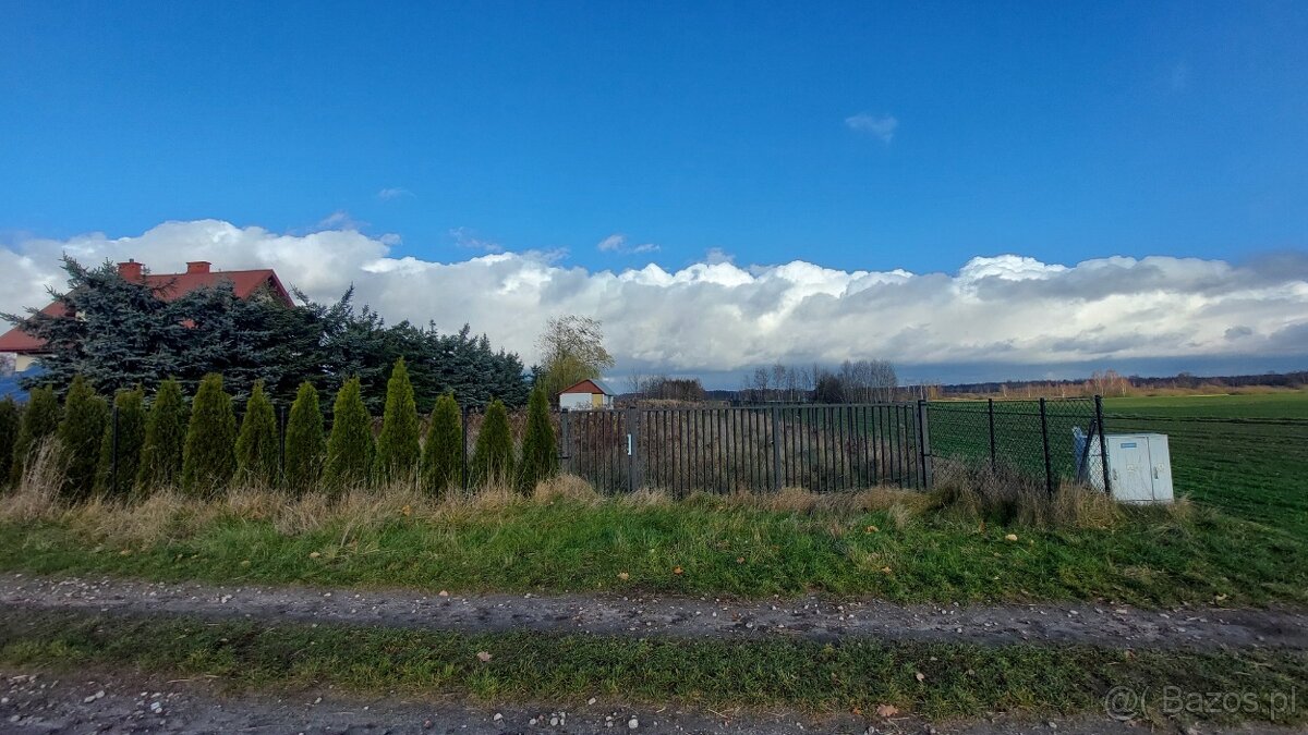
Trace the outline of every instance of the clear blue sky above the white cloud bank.
{"label": "clear blue sky above the white cloud bank", "polygon": [[[1301,3],[5,16],[9,239],[203,217],[297,230],[344,212],[425,258],[464,258],[462,239],[593,268],[709,248],[952,272],[1010,251],[1308,247]],[[858,115],[893,118],[892,136]],[[596,251],[615,233],[659,251]]]}

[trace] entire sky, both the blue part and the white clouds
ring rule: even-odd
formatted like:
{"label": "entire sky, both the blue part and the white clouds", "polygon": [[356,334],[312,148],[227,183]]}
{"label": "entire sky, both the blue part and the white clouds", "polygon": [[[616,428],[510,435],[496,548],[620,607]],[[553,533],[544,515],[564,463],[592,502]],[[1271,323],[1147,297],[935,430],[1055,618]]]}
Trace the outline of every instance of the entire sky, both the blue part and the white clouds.
{"label": "entire sky, both the blue part and the white clouds", "polygon": [[63,251],[715,385],[1308,365],[1305,3],[269,5],[0,10],[0,310]]}

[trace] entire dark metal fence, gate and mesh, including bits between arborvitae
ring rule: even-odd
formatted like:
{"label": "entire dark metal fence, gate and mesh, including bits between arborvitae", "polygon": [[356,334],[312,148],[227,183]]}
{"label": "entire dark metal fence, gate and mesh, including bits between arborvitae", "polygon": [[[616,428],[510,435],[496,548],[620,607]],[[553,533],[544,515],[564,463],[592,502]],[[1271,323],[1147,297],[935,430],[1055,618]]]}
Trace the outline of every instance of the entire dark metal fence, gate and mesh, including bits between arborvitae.
{"label": "entire dark metal fence, gate and mesh, including bits between arborvitae", "polygon": [[[467,488],[483,413],[464,409],[462,416]],[[930,489],[937,458],[989,462],[1037,479],[1049,492],[1062,481],[1108,487],[1097,396],[564,411],[552,421],[562,470],[607,493]],[[522,436],[525,422],[523,412],[510,415],[514,436]],[[284,442],[285,407],[277,424]],[[116,487],[116,409],[111,430]],[[285,463],[284,443],[281,454]]]}

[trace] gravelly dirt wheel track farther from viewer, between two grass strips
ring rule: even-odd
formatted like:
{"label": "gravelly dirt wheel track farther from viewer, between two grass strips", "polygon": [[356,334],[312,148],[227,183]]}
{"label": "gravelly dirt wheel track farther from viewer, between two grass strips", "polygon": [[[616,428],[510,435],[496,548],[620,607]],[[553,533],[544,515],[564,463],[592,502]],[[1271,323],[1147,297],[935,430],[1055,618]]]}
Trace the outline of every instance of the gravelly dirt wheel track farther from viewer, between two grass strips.
{"label": "gravelly dirt wheel track farther from viewer, between two grass strips", "polygon": [[1173,608],[1092,603],[899,606],[819,598],[722,602],[619,595],[449,595],[407,590],[326,590],[110,577],[0,574],[0,606],[211,619],[334,623],[460,632],[540,630],[600,636],[800,637],[1006,645],[1308,650],[1308,611]]}

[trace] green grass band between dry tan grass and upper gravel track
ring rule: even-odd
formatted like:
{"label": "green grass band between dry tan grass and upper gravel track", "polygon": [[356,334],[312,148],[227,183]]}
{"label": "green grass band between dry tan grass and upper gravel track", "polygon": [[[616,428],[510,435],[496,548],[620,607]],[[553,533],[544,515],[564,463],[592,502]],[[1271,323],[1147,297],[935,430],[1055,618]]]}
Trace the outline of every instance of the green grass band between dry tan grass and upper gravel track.
{"label": "green grass band between dry tan grass and upper gravel track", "polygon": [[[154,541],[97,523],[3,523],[0,570],[470,592],[1308,603],[1308,539],[1211,511],[1137,510],[1109,528],[1040,530],[933,510],[791,513],[701,496],[651,506],[517,501],[303,532],[281,532],[264,513],[226,511]],[[1008,532],[1019,540],[1005,540]]]}

